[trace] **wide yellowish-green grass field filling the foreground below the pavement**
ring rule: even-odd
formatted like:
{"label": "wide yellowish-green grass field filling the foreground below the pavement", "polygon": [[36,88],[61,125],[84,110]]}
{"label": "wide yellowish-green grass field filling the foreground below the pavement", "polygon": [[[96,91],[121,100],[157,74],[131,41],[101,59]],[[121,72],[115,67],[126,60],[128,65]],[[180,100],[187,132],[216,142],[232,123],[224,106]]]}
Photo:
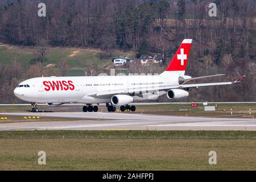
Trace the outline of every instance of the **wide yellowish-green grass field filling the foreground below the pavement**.
{"label": "wide yellowish-green grass field filling the foreground below the pavement", "polygon": [[[208,131],[209,135],[217,138],[196,138],[205,132],[0,132],[0,170],[256,169],[255,132],[246,131],[246,135],[250,136],[248,139],[243,138],[245,133],[239,131]],[[124,139],[123,136],[127,134],[133,135],[134,138]],[[62,138],[63,135],[65,136],[64,139]],[[85,138],[86,135],[87,138]],[[106,138],[107,135],[117,138],[109,139]],[[149,138],[148,136],[151,135],[155,135],[157,138]],[[223,139],[224,135],[233,135],[236,136],[236,139]],[[101,138],[101,136],[106,137]],[[176,136],[177,138],[166,139],[167,136]],[[179,136],[190,136],[191,138],[180,139]],[[217,165],[209,165],[208,163],[208,154],[212,150],[217,152]],[[46,152],[45,166],[38,164],[39,151]]]}

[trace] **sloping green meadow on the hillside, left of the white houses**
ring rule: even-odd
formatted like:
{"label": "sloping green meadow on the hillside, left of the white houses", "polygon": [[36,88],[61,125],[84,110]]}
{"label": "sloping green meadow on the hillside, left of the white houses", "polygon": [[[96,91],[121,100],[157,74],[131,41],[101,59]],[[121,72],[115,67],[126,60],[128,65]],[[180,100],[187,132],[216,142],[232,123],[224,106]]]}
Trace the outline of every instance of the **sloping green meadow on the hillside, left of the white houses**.
{"label": "sloping green meadow on the hillside, left of the white houses", "polygon": [[[24,65],[29,67],[31,59],[37,57],[37,47],[18,47],[18,46],[0,46],[0,63],[10,64],[11,60],[16,59]],[[88,68],[98,67],[103,68],[109,64],[113,57],[119,55],[134,56],[134,52],[122,52],[115,50],[113,56],[103,56],[101,59],[100,55],[108,55],[108,52],[104,52],[98,49],[77,49],[77,48],[47,48],[47,60],[44,62],[44,66],[48,64],[59,64],[61,59],[68,61],[69,67],[74,68]]]}

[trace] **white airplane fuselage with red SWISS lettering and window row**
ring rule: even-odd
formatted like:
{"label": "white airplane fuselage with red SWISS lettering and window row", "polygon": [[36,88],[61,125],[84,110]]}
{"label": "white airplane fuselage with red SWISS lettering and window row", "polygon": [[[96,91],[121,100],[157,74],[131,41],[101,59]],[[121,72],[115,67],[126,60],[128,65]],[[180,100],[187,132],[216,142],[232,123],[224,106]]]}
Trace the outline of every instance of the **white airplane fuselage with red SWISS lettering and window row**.
{"label": "white airplane fuselage with red SWISS lettering and window row", "polygon": [[[160,75],[38,77],[21,82],[14,90],[14,94],[27,102],[98,104],[110,102],[111,97],[91,97],[88,96],[90,93],[129,90],[129,93],[133,94],[133,91],[137,92],[138,89],[144,88],[141,92],[143,96],[147,88],[154,87],[155,95],[159,96],[166,92],[156,93],[158,86],[179,85],[178,78],[179,75],[176,74],[170,75],[169,78]],[[146,98],[148,97],[144,97],[145,100]],[[143,97],[134,96],[134,100],[143,100]]]}

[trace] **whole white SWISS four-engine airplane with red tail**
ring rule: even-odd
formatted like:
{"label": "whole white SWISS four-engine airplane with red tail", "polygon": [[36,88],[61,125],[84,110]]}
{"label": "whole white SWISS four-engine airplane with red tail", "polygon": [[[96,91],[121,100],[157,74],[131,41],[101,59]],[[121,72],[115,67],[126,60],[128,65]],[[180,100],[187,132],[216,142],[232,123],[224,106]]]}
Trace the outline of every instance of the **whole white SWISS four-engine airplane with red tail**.
{"label": "whole white SWISS four-engine airplane with red tail", "polygon": [[[97,112],[98,104],[106,104],[108,111],[135,111],[134,101],[156,100],[167,94],[170,100],[188,97],[188,90],[201,86],[236,84],[236,81],[186,84],[188,81],[221,75],[194,77],[184,75],[192,39],[184,39],[166,71],[160,75],[38,77],[21,82],[14,90],[20,100],[31,102],[32,111],[37,104],[49,106],[82,103],[82,111]],[[93,106],[94,104],[94,106]]]}

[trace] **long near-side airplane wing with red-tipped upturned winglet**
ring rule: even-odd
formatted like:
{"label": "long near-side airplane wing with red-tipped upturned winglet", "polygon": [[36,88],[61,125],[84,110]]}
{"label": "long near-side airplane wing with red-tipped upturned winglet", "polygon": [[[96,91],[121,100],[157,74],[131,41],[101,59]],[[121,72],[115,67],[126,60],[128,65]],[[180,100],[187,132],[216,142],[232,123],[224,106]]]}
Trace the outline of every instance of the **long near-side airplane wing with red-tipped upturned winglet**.
{"label": "long near-side airplane wing with red-tipped upturned winglet", "polygon": [[242,76],[235,81],[229,82],[213,82],[213,83],[205,83],[205,84],[184,84],[184,85],[172,85],[172,86],[154,86],[154,87],[144,87],[144,88],[132,88],[132,89],[116,89],[116,90],[108,90],[108,91],[94,91],[86,96],[100,97],[100,96],[111,96],[114,94],[139,94],[146,92],[159,92],[166,91],[169,89],[184,89],[184,88],[199,88],[201,86],[213,86],[213,85],[231,85],[237,84],[242,81],[246,76]]}

